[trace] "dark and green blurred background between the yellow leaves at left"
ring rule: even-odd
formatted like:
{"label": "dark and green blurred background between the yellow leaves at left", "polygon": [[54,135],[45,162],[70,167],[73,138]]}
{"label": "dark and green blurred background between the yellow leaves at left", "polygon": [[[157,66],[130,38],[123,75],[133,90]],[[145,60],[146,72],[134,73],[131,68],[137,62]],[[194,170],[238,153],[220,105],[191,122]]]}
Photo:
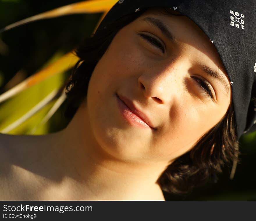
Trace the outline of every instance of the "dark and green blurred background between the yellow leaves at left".
{"label": "dark and green blurred background between the yellow leaves at left", "polygon": [[[60,7],[74,1],[0,1],[0,29],[24,18]],[[13,87],[17,78],[29,77],[47,64],[70,52],[79,42],[93,32],[100,14],[68,15],[40,20],[8,30],[0,35],[0,86]],[[1,47],[2,46],[2,47]],[[1,50],[5,48],[5,50]],[[23,76],[18,76],[21,75]],[[38,85],[16,95],[0,105],[0,130],[24,115],[54,88],[58,88],[70,76],[71,70],[58,73]],[[26,76],[24,76],[26,75]],[[15,80],[16,79],[16,80]],[[29,134],[49,108],[47,105],[11,134]],[[54,114],[47,124],[40,126],[35,134],[61,130],[68,124],[63,115],[66,104]]]}

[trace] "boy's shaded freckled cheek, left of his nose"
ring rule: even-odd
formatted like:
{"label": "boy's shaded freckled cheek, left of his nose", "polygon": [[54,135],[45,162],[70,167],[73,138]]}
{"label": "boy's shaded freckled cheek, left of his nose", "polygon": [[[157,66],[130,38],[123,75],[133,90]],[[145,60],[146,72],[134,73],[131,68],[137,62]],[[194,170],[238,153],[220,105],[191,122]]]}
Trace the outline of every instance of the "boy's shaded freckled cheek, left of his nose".
{"label": "boy's shaded freckled cheek, left of his nose", "polygon": [[93,71],[88,86],[90,97],[105,99],[108,93],[129,84],[131,79],[142,73],[145,65],[145,56],[131,43],[131,39],[116,36]]}

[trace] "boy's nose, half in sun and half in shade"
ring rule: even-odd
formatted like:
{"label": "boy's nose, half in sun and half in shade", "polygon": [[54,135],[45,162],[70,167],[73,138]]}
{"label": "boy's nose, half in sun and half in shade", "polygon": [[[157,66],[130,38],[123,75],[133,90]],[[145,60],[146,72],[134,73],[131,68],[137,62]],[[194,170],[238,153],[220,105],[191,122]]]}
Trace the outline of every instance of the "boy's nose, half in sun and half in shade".
{"label": "boy's nose, half in sun and half in shade", "polygon": [[138,78],[138,86],[144,96],[151,98],[159,104],[166,104],[179,92],[181,76],[177,75],[174,67],[171,69],[151,68]]}

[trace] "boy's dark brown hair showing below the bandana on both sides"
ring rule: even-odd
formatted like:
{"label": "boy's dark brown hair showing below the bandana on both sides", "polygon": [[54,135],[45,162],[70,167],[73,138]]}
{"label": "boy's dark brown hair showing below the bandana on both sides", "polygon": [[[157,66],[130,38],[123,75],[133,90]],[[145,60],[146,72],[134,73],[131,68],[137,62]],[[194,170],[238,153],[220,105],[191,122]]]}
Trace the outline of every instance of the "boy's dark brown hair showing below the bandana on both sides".
{"label": "boy's dark brown hair showing below the bandana on both sides", "polygon": [[[86,97],[90,76],[116,33],[143,12],[145,11],[125,16],[105,29],[98,30],[77,47],[75,52],[80,60],[66,86],[70,104],[66,111],[68,116],[74,114],[82,99]],[[170,15],[169,11],[166,12]],[[237,161],[239,143],[235,128],[231,103],[223,119],[202,136],[191,151],[175,159],[161,174],[158,179],[161,189],[173,194],[188,193],[194,187],[205,184],[212,175],[222,172],[224,164]]]}

